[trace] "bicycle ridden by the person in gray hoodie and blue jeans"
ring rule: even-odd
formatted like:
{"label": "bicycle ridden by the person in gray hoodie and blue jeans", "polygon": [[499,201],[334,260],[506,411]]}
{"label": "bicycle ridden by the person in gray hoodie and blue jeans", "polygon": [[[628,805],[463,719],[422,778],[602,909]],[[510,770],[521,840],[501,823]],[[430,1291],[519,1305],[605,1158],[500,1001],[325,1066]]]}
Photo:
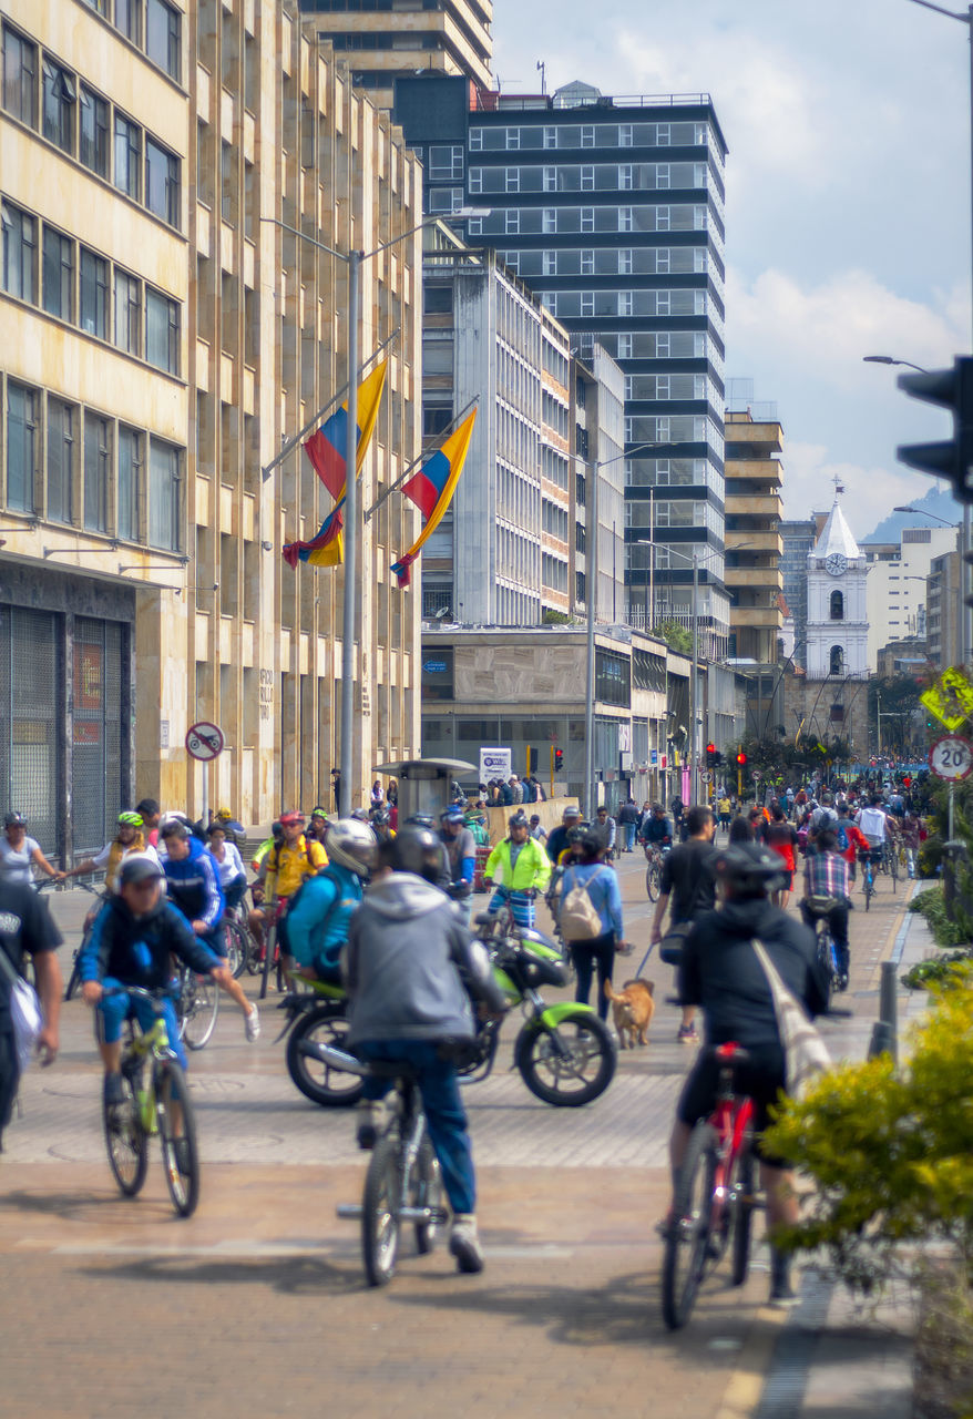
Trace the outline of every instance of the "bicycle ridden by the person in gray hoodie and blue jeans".
{"label": "bicycle ridden by the person in gray hoodie and blue jeans", "polygon": [[332,1069],[363,1078],[390,1078],[390,1117],[377,1137],[360,1203],[339,1203],[338,1216],[362,1222],[362,1259],[369,1286],[387,1286],[396,1273],[401,1225],[416,1227],[416,1250],[435,1246],[450,1212],[443,1205],[440,1164],[428,1135],[416,1070],[403,1061],[363,1063],[330,1044],[321,1056]]}

